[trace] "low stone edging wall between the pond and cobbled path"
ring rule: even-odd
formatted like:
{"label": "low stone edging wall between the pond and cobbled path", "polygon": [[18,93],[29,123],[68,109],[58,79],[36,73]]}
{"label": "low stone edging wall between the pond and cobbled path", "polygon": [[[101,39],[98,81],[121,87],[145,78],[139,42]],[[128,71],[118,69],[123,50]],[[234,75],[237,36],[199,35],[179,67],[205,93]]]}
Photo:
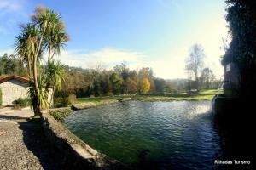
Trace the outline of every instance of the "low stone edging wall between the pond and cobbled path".
{"label": "low stone edging wall between the pond and cobbled path", "polygon": [[85,144],[61,122],[50,116],[48,111],[42,111],[42,122],[44,134],[49,141],[81,169],[129,169],[125,164],[113,160]]}

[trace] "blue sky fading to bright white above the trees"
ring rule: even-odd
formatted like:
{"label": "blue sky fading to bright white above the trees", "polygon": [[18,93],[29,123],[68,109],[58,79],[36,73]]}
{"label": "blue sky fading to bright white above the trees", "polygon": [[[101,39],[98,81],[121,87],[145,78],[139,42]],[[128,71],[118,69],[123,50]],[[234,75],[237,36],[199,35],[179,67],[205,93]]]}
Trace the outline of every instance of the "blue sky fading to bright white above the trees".
{"label": "blue sky fading to bright white above the trees", "polygon": [[186,78],[184,61],[199,43],[205,66],[222,77],[223,0],[0,0],[0,55],[13,54],[20,24],[43,4],[61,14],[71,40],[55,59],[82,68],[151,67],[155,77]]}

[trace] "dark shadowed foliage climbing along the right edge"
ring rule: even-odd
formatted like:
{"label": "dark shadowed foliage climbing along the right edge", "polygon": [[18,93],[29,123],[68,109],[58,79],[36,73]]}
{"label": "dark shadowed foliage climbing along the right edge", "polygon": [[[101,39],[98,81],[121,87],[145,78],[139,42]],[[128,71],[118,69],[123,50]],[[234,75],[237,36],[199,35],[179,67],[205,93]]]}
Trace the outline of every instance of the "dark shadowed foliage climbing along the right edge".
{"label": "dark shadowed foliage climbing along the right edge", "polygon": [[239,67],[239,95],[253,97],[256,94],[256,2],[227,0],[226,3],[232,40],[222,63],[234,62]]}

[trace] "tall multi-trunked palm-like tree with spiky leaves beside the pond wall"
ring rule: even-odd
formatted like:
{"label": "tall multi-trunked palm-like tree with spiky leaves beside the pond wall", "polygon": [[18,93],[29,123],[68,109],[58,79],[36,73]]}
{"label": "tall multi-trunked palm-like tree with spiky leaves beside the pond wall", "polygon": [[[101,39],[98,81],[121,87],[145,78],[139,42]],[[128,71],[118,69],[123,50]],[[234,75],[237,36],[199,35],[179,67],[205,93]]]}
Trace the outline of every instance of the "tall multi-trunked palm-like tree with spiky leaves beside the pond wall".
{"label": "tall multi-trunked palm-like tree with spiky leaves beside the pond wall", "polygon": [[[68,41],[65,26],[60,14],[54,10],[38,7],[32,15],[30,23],[21,27],[21,33],[16,37],[15,51],[26,65],[30,77],[30,96],[35,116],[40,115],[40,109],[48,108],[49,83],[57,83],[60,79],[50,70],[50,61],[55,54],[60,54],[61,48]],[[48,53],[49,72],[52,77],[49,81],[40,74],[40,59]],[[39,68],[38,68],[39,67]],[[53,76],[54,75],[54,76]],[[55,85],[59,85],[55,84]]]}

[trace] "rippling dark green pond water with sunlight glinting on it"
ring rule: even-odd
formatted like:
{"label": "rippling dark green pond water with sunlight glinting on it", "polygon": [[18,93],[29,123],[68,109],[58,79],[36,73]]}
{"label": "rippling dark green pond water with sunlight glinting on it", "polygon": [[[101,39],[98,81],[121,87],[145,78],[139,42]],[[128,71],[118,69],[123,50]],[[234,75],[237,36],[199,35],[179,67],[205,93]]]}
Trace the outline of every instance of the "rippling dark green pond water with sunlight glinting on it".
{"label": "rippling dark green pond water with sunlight glinting on it", "polygon": [[75,111],[67,127],[100,152],[148,169],[212,169],[220,154],[210,101],[139,102]]}

